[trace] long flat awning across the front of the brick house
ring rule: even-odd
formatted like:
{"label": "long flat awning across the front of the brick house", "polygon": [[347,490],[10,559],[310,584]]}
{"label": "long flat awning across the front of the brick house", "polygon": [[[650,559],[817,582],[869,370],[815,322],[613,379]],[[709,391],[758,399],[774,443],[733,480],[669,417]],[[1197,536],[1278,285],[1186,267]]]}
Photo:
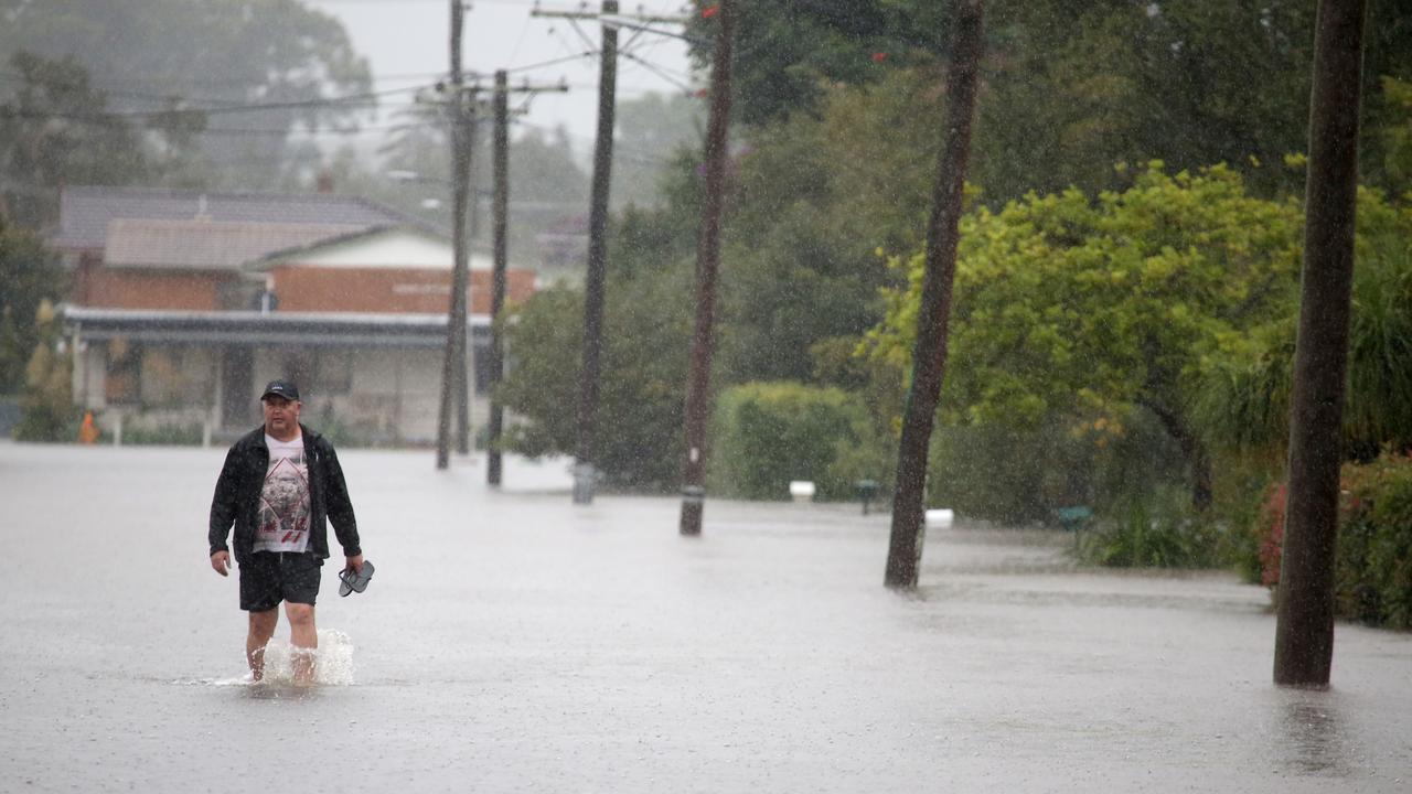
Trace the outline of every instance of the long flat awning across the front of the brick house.
{"label": "long flat awning across the front of the brick house", "polygon": [[[136,311],[65,305],[69,333],[86,340],[127,339],[179,345],[298,345],[328,348],[436,348],[446,343],[446,315],[258,311]],[[473,335],[490,318],[472,316]]]}

